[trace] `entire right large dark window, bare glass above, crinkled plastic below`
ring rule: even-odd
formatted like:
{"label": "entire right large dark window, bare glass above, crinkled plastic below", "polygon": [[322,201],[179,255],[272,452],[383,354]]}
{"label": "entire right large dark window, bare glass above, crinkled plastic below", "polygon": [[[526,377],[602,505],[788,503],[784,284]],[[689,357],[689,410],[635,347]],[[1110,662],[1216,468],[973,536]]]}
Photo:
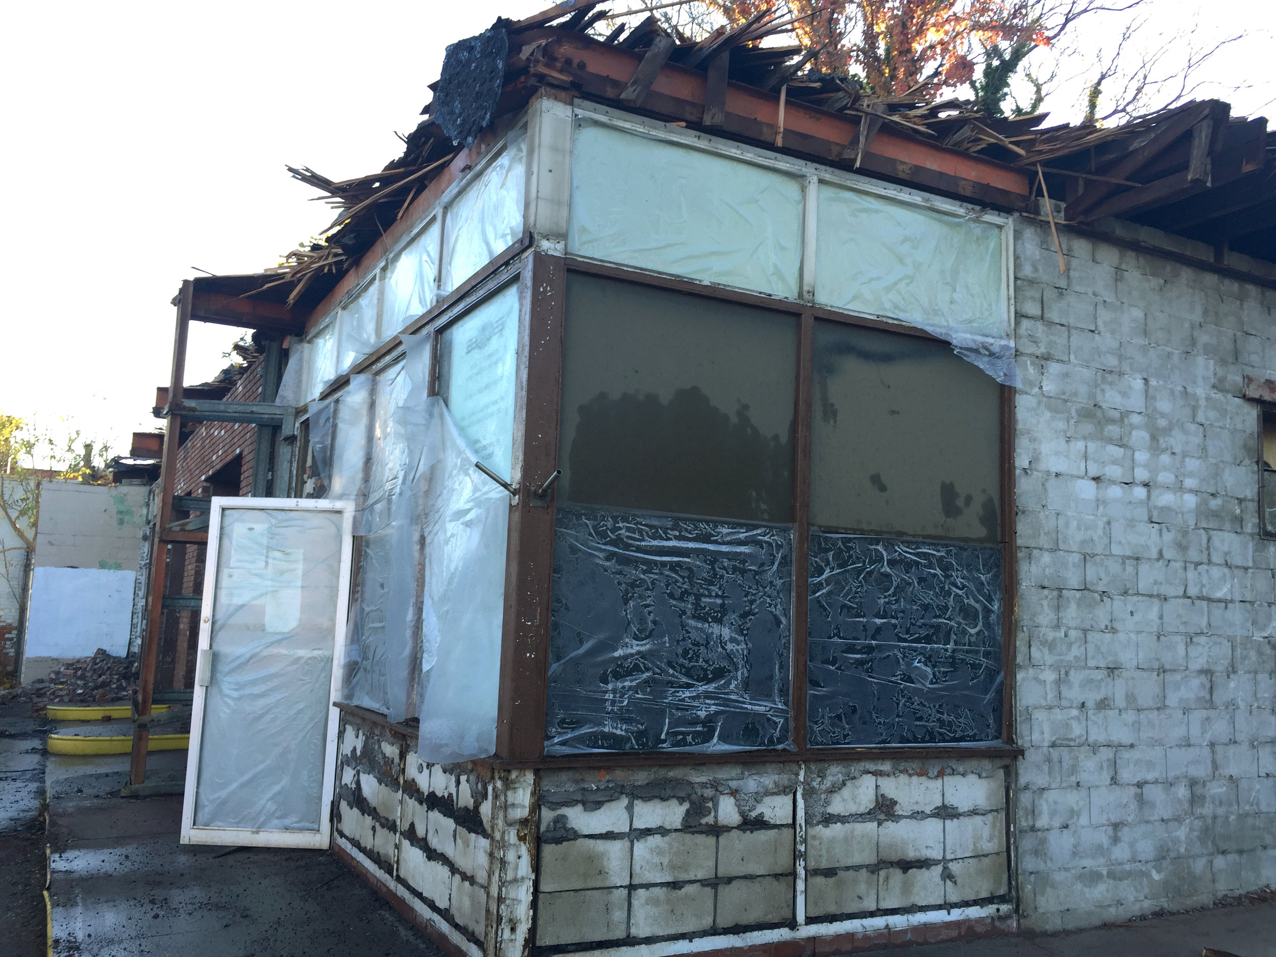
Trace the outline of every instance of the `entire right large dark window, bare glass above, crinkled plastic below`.
{"label": "entire right large dark window, bare glass above, crinkled plastic below", "polygon": [[809,743],[995,740],[999,387],[944,343],[817,322]]}

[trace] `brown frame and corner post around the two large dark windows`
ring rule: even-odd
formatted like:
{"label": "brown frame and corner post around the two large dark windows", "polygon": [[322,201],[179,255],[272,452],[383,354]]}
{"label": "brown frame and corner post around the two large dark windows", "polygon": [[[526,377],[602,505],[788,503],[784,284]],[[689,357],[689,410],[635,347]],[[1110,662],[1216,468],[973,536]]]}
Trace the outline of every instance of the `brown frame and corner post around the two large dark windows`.
{"label": "brown frame and corner post around the two large dark windows", "polygon": [[[510,267],[512,269],[514,267]],[[496,726],[496,767],[578,768],[689,766],[845,760],[849,758],[1020,757],[1014,744],[1014,635],[1017,632],[1017,572],[1014,545],[1014,390],[1000,389],[1002,491],[1002,739],[986,744],[884,745],[809,748],[806,744],[806,568],[810,531],[810,415],[817,319],[882,329],[942,342],[912,327],[868,319],[810,304],[780,300],[721,286],[598,263],[573,256],[528,251],[519,260],[518,392],[514,411],[512,473],[521,494],[510,507],[505,578],[505,616],[501,641],[500,706]],[[648,288],[670,290],[723,302],[785,313],[799,320],[798,396],[794,443],[794,634],[791,661],[791,749],[759,749],[726,754],[686,752],[604,752],[549,757],[545,754],[546,690],[549,681],[550,602],[553,598],[555,498],[537,500],[540,487],[558,467],[559,403],[563,385],[563,323],[569,272],[612,278]],[[501,282],[500,285],[504,285]],[[495,291],[490,288],[489,292]],[[467,297],[468,299],[468,297]],[[441,327],[438,327],[441,328]]]}

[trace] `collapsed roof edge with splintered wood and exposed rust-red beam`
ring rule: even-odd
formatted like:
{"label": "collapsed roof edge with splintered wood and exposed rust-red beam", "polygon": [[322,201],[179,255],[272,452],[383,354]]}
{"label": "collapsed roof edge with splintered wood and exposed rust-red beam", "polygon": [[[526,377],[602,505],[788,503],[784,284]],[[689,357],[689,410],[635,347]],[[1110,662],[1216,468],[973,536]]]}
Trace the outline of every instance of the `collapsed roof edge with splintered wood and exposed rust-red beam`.
{"label": "collapsed roof edge with splintered wood and exposed rust-red beam", "polygon": [[1276,262],[1276,143],[1266,119],[1234,119],[1228,103],[1189,102],[1110,129],[1042,126],[1045,114],[875,97],[814,71],[815,50],[762,45],[790,26],[775,11],[692,41],[655,17],[596,36],[609,14],[598,6],[570,0],[498,19],[449,47],[426,119],[380,172],[333,181],[288,167],[328,194],[337,217],[271,278],[242,277],[255,281],[253,299],[313,308],[461,149],[540,89],[998,209],[1035,212],[1045,191],[1064,200],[1063,222],[1120,217]]}

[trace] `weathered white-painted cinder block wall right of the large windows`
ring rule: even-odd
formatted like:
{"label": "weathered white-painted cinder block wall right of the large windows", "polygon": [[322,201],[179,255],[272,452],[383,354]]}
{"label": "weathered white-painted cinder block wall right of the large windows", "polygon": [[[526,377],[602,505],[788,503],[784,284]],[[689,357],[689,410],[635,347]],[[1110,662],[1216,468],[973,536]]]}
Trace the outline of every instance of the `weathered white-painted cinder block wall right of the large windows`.
{"label": "weathered white-painted cinder block wall right of the large windows", "polygon": [[1014,806],[1044,930],[1276,884],[1276,542],[1240,397],[1276,378],[1276,290],[1060,239],[1062,276],[1018,222]]}

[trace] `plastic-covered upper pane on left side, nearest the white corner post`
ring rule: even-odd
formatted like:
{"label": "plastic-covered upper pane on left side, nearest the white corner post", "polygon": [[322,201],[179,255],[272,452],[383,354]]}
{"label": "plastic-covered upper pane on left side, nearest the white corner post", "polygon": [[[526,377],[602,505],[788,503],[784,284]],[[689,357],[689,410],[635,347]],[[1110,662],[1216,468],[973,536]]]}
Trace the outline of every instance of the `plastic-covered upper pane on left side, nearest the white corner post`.
{"label": "plastic-covered upper pane on left side, nearest the white corner post", "polygon": [[440,292],[452,292],[523,235],[526,179],[527,130],[519,128],[448,205]]}

